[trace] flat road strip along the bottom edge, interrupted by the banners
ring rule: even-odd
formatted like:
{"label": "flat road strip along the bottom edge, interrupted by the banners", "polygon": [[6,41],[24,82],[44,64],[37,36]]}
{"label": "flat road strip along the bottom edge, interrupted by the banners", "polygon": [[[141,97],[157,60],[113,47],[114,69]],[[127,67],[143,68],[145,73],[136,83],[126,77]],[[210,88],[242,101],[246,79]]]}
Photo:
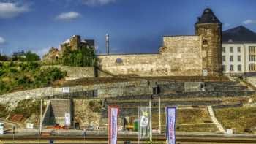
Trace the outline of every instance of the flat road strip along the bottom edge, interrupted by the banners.
{"label": "flat road strip along the bottom edge, interrupted by the banners", "polygon": [[[12,143],[12,137],[0,137],[0,140],[5,143]],[[41,142],[49,143],[49,140],[56,140],[58,143],[83,143],[84,137],[15,137],[15,140],[20,140],[20,142],[25,143],[39,143],[39,140],[43,140]],[[86,136],[86,143],[107,143],[108,136],[107,135],[89,135]],[[138,137],[136,136],[124,136],[120,135],[118,137],[119,143],[124,143],[124,141],[132,141],[132,143],[138,143]],[[153,137],[154,141],[157,142],[165,142],[165,136],[159,135]],[[212,137],[212,136],[177,136],[176,137],[177,144],[183,143],[256,143],[255,137]],[[17,143],[18,141],[15,141]]]}

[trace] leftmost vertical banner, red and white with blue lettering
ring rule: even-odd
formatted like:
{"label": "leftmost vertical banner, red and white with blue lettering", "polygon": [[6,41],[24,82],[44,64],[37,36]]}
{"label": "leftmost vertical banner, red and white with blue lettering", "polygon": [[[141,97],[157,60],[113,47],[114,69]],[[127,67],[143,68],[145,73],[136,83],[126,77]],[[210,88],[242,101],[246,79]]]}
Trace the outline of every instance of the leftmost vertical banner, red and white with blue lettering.
{"label": "leftmost vertical banner, red and white with blue lettering", "polygon": [[118,107],[108,107],[108,144],[117,144]]}

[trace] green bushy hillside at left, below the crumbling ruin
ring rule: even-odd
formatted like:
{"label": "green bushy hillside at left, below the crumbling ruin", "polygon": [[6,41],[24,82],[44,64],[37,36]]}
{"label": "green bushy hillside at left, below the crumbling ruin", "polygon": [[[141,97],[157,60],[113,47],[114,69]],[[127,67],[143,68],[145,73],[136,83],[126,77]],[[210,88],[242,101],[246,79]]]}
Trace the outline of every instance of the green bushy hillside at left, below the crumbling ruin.
{"label": "green bushy hillside at left, below the crumbling ruin", "polygon": [[40,67],[38,62],[0,62],[0,94],[49,86],[66,75],[57,68]]}

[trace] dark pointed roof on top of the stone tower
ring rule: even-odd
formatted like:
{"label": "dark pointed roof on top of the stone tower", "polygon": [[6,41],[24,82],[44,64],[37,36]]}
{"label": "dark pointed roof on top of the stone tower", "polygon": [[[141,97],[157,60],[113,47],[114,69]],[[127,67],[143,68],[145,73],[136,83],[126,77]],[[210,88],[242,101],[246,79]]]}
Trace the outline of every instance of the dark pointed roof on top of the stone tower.
{"label": "dark pointed roof on top of the stone tower", "polygon": [[214,12],[212,12],[212,10],[209,8],[207,8],[203,11],[203,14],[201,17],[198,17],[197,23],[219,23],[219,24],[222,24],[219,21],[219,19],[214,15]]}

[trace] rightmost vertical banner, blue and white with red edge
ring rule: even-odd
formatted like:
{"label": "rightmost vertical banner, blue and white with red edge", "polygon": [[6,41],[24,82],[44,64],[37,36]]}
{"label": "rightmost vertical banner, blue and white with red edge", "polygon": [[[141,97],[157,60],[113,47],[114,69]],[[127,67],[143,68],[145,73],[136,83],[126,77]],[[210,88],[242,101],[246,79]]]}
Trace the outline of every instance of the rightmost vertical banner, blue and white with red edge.
{"label": "rightmost vertical banner, blue and white with red edge", "polygon": [[175,144],[176,107],[166,107],[166,138],[167,144]]}

